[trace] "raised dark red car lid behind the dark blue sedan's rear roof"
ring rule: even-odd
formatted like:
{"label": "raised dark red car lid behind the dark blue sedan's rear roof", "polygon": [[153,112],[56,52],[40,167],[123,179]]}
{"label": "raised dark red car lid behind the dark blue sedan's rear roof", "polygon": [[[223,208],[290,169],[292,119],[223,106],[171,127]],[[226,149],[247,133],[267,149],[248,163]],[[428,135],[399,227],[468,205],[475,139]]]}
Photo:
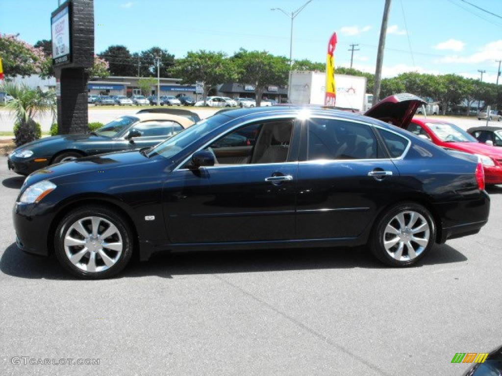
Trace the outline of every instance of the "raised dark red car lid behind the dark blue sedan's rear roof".
{"label": "raised dark red car lid behind the dark blue sedan's rear roof", "polygon": [[394,94],[382,99],[367,110],[364,115],[406,128],[417,109],[427,102],[413,94]]}

